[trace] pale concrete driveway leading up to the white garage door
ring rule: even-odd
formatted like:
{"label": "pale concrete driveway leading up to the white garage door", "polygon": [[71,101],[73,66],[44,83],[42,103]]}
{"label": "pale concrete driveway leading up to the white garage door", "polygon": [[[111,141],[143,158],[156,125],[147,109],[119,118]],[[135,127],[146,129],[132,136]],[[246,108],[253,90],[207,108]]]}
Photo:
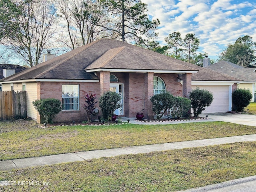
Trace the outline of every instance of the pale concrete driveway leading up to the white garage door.
{"label": "pale concrete driveway leading up to the white garage door", "polygon": [[236,113],[212,113],[208,114],[208,118],[217,121],[256,126],[256,115]]}

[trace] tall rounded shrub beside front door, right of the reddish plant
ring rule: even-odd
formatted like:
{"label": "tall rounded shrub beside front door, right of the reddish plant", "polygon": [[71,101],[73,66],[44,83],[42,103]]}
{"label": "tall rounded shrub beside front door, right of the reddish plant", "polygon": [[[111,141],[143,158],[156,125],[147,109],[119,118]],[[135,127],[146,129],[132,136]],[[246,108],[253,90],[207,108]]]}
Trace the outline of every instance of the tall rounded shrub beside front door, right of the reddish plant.
{"label": "tall rounded shrub beside front door, right of the reddish plant", "polygon": [[100,109],[104,120],[111,121],[114,111],[122,106],[120,100],[122,97],[116,92],[107,91],[100,96]]}

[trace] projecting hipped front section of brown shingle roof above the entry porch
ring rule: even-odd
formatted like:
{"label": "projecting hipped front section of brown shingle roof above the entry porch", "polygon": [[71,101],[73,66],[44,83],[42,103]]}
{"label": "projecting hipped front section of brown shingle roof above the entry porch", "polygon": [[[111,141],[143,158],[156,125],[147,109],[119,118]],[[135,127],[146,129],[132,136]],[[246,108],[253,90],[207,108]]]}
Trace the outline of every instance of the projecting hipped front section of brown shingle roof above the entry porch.
{"label": "projecting hipped front section of brown shingle roof above the entry porch", "polygon": [[[167,57],[159,57],[152,52],[145,52],[144,49],[137,47],[122,46],[108,50],[95,62],[86,68],[108,68],[108,69],[129,69],[129,70],[179,70],[179,71],[197,71],[189,66],[168,60]],[[122,65],[120,65],[122,61]]]}

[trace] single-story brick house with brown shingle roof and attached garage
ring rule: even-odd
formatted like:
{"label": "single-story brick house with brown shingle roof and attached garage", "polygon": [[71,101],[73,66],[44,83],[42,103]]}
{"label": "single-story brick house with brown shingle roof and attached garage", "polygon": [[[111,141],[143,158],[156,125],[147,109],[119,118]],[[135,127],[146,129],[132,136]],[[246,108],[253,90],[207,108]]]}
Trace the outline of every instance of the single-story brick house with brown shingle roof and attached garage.
{"label": "single-story brick house with brown shingle roof and attached garage", "polygon": [[[2,80],[3,90],[27,91],[28,117],[40,122],[32,101],[57,98],[62,112],[54,121],[85,120],[85,94],[108,90],[122,96],[119,116],[143,112],[152,118],[150,97],[162,91],[188,97],[199,86],[215,92],[208,112],[231,110],[232,90],[240,80],[118,40],[100,39]],[[221,96],[218,94],[221,93]],[[98,106],[98,105],[97,105]]]}

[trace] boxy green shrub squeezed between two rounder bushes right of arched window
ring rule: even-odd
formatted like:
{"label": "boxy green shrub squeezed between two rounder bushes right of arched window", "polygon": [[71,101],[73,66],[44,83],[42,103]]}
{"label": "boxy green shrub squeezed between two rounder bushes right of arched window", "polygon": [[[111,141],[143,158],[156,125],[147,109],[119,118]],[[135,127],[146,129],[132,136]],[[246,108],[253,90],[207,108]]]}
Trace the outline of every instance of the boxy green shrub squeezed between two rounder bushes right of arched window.
{"label": "boxy green shrub squeezed between two rounder bushes right of arched window", "polygon": [[184,97],[174,97],[174,103],[172,107],[172,117],[186,117],[190,115],[191,101]]}

